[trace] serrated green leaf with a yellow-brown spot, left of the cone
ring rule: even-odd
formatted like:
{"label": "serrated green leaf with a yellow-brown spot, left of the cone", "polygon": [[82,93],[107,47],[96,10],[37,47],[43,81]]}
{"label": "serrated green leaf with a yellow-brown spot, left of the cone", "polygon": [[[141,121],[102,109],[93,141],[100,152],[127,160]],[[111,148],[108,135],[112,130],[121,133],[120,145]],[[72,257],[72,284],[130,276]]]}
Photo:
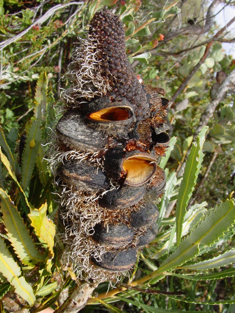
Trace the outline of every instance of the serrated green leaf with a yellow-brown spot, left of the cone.
{"label": "serrated green leaf with a yellow-brown spot, left of the cone", "polygon": [[22,154],[22,188],[25,191],[29,185],[34,164],[41,143],[41,122],[34,121],[30,127],[29,134],[25,141],[24,151]]}

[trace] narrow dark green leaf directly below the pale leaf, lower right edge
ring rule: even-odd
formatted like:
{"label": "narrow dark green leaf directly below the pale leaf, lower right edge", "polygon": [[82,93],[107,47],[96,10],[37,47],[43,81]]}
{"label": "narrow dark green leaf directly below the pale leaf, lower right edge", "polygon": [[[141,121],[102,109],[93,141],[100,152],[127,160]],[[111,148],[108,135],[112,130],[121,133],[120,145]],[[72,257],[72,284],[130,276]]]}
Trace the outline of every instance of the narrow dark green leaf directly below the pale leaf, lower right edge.
{"label": "narrow dark green leaf directly below the pale leaf, lower right edge", "polygon": [[200,274],[200,275],[180,275],[180,274],[171,274],[172,276],[180,277],[188,280],[214,280],[214,279],[222,279],[226,277],[235,276],[235,268],[232,267],[230,269],[226,269],[224,271],[212,274]]}

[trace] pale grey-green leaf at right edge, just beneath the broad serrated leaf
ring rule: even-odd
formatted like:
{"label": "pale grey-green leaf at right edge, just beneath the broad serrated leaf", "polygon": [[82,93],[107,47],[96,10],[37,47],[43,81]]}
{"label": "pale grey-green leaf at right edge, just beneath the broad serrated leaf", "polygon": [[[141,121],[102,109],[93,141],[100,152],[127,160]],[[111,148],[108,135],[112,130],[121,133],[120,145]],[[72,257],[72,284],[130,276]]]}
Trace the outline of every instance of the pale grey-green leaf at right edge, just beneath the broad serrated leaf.
{"label": "pale grey-green leaf at right edge, just beneath the broad serrated leaf", "polygon": [[233,263],[235,263],[235,248],[228,250],[225,253],[220,254],[212,259],[197,262],[195,264],[185,265],[183,267],[185,269],[204,270],[204,269],[215,269]]}

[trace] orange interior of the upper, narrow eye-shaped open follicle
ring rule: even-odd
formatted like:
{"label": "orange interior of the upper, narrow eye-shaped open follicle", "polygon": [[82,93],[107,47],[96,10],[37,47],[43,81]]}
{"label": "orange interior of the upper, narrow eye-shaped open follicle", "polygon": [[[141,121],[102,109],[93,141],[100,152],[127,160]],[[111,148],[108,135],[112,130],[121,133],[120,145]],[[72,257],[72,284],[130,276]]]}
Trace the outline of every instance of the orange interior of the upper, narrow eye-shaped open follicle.
{"label": "orange interior of the upper, narrow eye-shaped open follicle", "polygon": [[130,114],[127,108],[111,107],[91,113],[88,117],[91,120],[102,122],[125,121],[130,117]]}

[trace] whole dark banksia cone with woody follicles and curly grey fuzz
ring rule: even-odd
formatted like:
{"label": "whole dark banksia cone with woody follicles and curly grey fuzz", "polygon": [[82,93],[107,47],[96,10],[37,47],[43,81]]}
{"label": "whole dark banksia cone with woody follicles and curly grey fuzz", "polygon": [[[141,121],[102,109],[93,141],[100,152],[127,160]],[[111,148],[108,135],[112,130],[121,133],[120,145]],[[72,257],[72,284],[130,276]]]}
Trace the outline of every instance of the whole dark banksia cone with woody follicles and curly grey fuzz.
{"label": "whole dark banksia cone with woody follicles and curly grey fuzz", "polygon": [[125,32],[109,10],[91,19],[65,75],[63,116],[51,158],[60,194],[62,262],[77,278],[107,280],[131,269],[157,233],[158,165],[170,137],[161,88],[141,85]]}

